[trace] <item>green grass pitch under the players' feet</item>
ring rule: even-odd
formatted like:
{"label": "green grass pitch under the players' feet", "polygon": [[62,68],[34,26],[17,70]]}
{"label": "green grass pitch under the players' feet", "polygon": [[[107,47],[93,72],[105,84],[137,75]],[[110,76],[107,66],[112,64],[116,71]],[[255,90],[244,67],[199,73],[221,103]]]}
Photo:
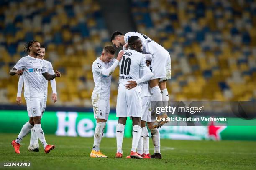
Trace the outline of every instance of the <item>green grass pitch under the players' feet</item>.
{"label": "green grass pitch under the players' feet", "polygon": [[[123,157],[114,158],[115,138],[103,138],[101,151],[109,158],[90,158],[93,138],[58,137],[47,135],[46,141],[56,149],[45,154],[42,145],[39,153],[28,152],[30,135],[21,143],[21,154],[15,154],[10,142],[18,134],[0,133],[0,170],[3,162],[30,162],[22,169],[47,170],[171,170],[171,169],[256,169],[256,142],[249,141],[182,141],[161,140],[163,159],[126,159],[131,150],[131,138],[123,140]],[[39,143],[40,144],[40,143]],[[150,139],[150,153],[154,153]]]}

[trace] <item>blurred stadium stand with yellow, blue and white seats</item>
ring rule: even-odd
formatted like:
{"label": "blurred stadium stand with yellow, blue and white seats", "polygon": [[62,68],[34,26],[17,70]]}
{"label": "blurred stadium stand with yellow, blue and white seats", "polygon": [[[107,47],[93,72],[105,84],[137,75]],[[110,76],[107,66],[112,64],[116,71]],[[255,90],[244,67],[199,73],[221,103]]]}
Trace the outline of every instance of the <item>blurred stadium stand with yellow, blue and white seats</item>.
{"label": "blurred stadium stand with yellow, blue and white seats", "polygon": [[[0,104],[15,104],[18,76],[9,70],[38,40],[62,73],[51,107],[91,108],[91,65],[113,31],[141,32],[170,52],[169,100],[256,99],[256,2],[253,0],[1,0]],[[110,105],[115,108],[118,69]],[[23,98],[23,107],[25,99]],[[91,109],[90,109],[91,110]]]}

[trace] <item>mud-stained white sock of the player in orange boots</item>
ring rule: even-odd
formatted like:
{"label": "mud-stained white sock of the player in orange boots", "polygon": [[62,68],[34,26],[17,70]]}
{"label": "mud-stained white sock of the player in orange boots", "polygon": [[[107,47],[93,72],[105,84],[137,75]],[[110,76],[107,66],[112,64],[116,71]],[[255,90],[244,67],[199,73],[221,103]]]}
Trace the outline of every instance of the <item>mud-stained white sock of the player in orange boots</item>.
{"label": "mud-stained white sock of the player in orange boots", "polygon": [[94,142],[93,148],[95,151],[100,151],[100,141],[102,139],[102,132],[104,132],[105,122],[100,122],[96,124],[96,128],[94,131]]}

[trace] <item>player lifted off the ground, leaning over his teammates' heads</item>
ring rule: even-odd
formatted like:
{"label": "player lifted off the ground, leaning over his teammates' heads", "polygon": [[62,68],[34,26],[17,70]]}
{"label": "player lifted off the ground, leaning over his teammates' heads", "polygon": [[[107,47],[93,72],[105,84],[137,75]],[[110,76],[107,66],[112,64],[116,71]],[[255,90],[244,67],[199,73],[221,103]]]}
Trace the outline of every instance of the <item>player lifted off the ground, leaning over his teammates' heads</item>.
{"label": "player lifted off the ground, leaning over his teammates' heads", "polygon": [[[148,36],[138,32],[127,32],[123,35],[119,31],[113,32],[110,42],[116,47],[123,47],[127,45],[128,39],[132,36],[138,36],[142,40],[143,54],[151,54],[153,56],[151,63],[151,71],[154,77],[150,80],[151,92],[154,96],[154,101],[157,107],[162,107],[163,101],[169,100],[168,90],[166,88],[167,79],[171,76],[171,58],[167,50],[161,45],[154,42]],[[160,117],[167,117],[167,114],[160,115]],[[165,121],[156,121],[154,127],[161,127]]]}

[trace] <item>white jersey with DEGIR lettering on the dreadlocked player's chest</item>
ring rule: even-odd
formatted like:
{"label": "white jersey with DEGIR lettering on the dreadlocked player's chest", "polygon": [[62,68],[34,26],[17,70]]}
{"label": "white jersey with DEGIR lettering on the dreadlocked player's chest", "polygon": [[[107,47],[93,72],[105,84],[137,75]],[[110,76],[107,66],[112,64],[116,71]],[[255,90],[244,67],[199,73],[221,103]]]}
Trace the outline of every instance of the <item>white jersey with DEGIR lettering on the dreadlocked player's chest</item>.
{"label": "white jersey with DEGIR lettering on the dreadlocked player's chest", "polygon": [[31,56],[22,57],[14,66],[17,70],[24,70],[24,97],[44,96],[44,77],[47,72],[43,60]]}

